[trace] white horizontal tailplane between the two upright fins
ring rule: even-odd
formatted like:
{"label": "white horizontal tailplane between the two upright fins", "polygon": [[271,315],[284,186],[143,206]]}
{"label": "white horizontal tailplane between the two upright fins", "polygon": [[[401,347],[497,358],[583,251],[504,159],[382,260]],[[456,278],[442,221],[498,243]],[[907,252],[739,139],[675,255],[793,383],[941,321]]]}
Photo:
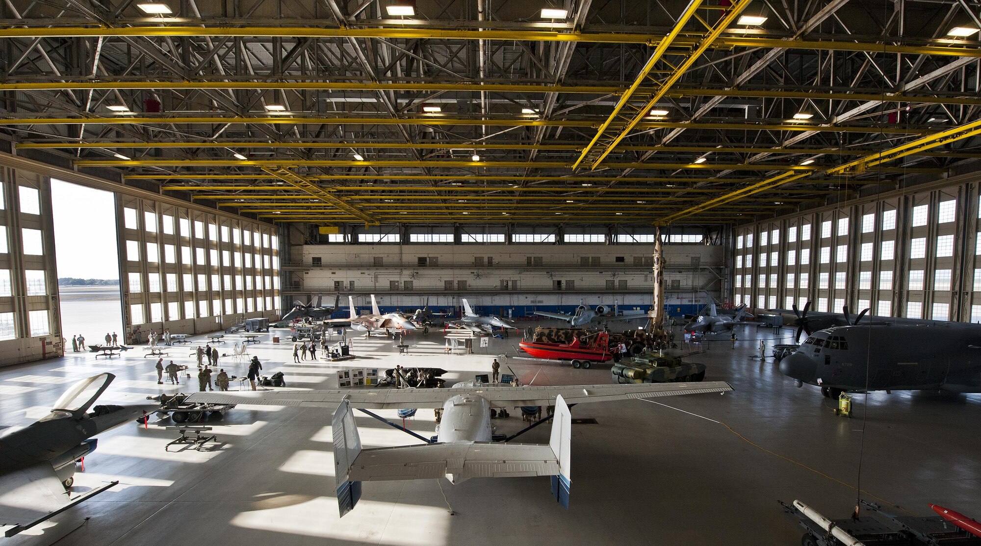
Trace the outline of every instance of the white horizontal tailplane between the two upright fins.
{"label": "white horizontal tailplane between the two upright fins", "polygon": [[558,459],[548,444],[426,444],[364,449],[348,472],[351,481],[555,475]]}

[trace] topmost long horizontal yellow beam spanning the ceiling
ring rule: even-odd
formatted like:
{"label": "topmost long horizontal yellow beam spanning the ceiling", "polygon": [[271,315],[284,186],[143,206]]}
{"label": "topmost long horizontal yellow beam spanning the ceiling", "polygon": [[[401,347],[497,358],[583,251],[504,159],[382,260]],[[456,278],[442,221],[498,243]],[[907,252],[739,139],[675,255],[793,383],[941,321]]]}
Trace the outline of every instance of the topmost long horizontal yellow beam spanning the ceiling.
{"label": "topmost long horizontal yellow beam spanning the ceiling", "polygon": [[[473,22],[479,25],[478,22]],[[185,36],[185,37],[286,37],[286,38],[404,38],[404,39],[457,39],[457,40],[518,40],[637,44],[654,46],[663,36],[627,32],[584,32],[577,30],[493,30],[493,29],[445,29],[432,27],[324,27],[324,26],[28,26],[0,28],[0,38],[69,38],[69,37],[128,37],[128,36]],[[679,45],[694,46],[698,36],[685,36],[676,40]],[[888,39],[888,38],[887,38]],[[944,55],[954,57],[981,57],[981,49],[970,42],[951,39],[934,39],[937,45],[904,45],[881,42],[856,42],[836,40],[796,40],[785,37],[741,36],[736,31],[715,40],[713,47],[729,49],[786,48],[821,51],[853,51],[879,54]]]}

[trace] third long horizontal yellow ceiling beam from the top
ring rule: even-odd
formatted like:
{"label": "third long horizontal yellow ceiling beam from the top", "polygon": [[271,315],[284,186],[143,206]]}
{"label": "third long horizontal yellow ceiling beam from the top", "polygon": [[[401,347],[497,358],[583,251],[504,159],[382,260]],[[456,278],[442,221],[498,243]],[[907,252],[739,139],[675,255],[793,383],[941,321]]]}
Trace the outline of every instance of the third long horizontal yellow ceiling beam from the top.
{"label": "third long horizontal yellow ceiling beam from the top", "polygon": [[[71,124],[362,124],[362,125],[492,125],[492,126],[548,126],[548,127],[597,127],[598,120],[535,120],[515,118],[510,120],[491,119],[459,119],[444,118],[439,114],[431,117],[416,118],[310,118],[294,116],[182,116],[182,117],[142,117],[118,116],[114,118],[0,118],[3,125],[71,125]],[[872,125],[830,125],[830,124],[720,124],[720,123],[684,123],[684,122],[644,122],[639,128],[686,128],[714,130],[788,130],[788,131],[830,131],[857,133],[887,133],[887,134],[929,134],[931,129],[925,127],[911,128],[899,126]],[[352,144],[352,147],[357,147]]]}

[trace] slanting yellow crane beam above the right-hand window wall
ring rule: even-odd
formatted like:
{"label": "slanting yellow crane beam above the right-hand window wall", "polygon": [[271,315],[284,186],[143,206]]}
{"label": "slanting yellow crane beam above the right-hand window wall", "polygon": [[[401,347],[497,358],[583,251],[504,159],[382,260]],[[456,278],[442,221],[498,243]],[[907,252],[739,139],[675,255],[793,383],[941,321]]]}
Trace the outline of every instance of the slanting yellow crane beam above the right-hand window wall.
{"label": "slanting yellow crane beam above the right-hand window wall", "polygon": [[[974,136],[977,134],[981,134],[981,120],[971,122],[969,124],[958,125],[954,128],[943,130],[924,138],[919,138],[911,142],[900,144],[899,146],[895,146],[893,148],[884,150],[877,154],[872,154],[868,157],[857,159],[855,161],[840,165],[838,167],[825,169],[824,173],[832,174],[832,175],[861,174],[866,172],[870,167],[881,166],[882,163],[885,163],[887,161],[893,161],[902,158],[904,156],[912,155],[917,150],[925,150],[936,146],[949,144],[951,142],[955,142],[962,138],[968,138],[970,136]],[[879,167],[879,170],[885,171],[885,169],[882,167]],[[658,221],[657,224],[664,225],[664,224],[672,223],[676,220],[698,214],[712,207],[718,207],[719,205],[724,205],[726,203],[731,203],[733,201],[742,199],[744,197],[752,195],[753,193],[766,191],[769,189],[773,189],[774,187],[777,187],[779,185],[786,184],[794,180],[799,180],[800,178],[803,178],[806,175],[807,174],[795,174],[795,173],[777,174],[775,176],[771,176],[765,180],[762,180],[750,186],[738,189],[726,195],[717,197],[710,201],[706,201],[705,203],[702,203],[700,205],[696,205],[695,207],[670,215]]]}

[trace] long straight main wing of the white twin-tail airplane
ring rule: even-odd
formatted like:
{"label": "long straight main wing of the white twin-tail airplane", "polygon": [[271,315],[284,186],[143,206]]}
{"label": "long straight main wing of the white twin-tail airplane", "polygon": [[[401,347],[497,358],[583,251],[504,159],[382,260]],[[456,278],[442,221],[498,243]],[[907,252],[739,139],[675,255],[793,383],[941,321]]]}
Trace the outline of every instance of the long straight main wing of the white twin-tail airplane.
{"label": "long straight main wing of the white twin-tail airplane", "polygon": [[441,408],[443,402],[458,394],[475,394],[496,408],[514,406],[551,406],[562,395],[566,403],[606,402],[631,398],[654,398],[679,394],[726,392],[732,386],[725,381],[698,383],[641,383],[525,387],[462,387],[422,389],[334,389],[279,390],[245,392],[195,392],[187,402],[207,404],[259,404],[265,406],[303,406],[333,408],[348,400],[353,408],[391,410],[401,408]]}

